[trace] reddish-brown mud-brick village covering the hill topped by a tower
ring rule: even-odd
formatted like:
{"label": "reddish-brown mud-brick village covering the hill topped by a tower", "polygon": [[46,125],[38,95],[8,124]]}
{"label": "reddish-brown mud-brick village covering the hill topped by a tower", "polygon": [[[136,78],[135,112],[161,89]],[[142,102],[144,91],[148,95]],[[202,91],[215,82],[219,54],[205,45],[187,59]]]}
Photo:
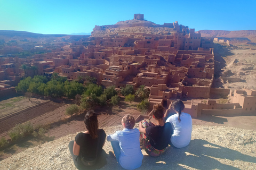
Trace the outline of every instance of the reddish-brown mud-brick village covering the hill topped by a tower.
{"label": "reddish-brown mud-brick village covering the hill topped by a tower", "polygon": [[[137,30],[137,31],[134,31]],[[139,31],[138,31],[139,30]],[[14,43],[15,42],[10,42]],[[62,38],[54,45],[15,44],[4,46],[0,53],[0,96],[15,92],[22,64],[31,65],[29,76],[51,75],[75,80],[79,76],[97,78],[105,87],[150,89],[151,107],[162,103],[173,112],[173,99],[181,98],[193,117],[201,114],[234,114],[256,111],[256,91],[214,88],[213,38],[203,38],[187,26],[173,23],[155,24],[134,14],[133,20],[97,26],[90,37],[68,43]],[[29,49],[34,57],[11,55]],[[8,55],[10,54],[10,55]],[[37,69],[33,69],[36,66]],[[229,96],[229,103],[217,103]]]}

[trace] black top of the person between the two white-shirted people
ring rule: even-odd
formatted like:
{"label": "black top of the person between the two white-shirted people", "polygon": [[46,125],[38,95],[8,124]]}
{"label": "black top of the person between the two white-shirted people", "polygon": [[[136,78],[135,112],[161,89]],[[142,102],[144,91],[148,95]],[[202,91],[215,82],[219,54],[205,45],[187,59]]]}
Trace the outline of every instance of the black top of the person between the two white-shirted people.
{"label": "black top of the person between the two white-shirted people", "polygon": [[163,126],[149,126],[146,128],[146,133],[151,146],[155,149],[162,150],[169,145],[172,135],[172,125],[167,122]]}

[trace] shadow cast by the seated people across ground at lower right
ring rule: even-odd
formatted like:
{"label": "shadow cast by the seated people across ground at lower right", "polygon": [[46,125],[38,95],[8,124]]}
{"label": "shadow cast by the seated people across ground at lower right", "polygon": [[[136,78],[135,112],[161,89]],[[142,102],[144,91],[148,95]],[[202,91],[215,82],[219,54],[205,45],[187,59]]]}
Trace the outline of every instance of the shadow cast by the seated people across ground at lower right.
{"label": "shadow cast by the seated people across ground at lower right", "polygon": [[[155,163],[153,169],[239,169],[232,165],[222,164],[218,159],[239,160],[256,163],[256,158],[241,154],[236,150],[214,145],[206,140],[194,139],[189,146],[181,149],[169,147],[166,153],[159,157],[144,156],[141,168],[147,162]],[[225,160],[223,160],[225,162]],[[150,164],[151,165],[151,164]]]}

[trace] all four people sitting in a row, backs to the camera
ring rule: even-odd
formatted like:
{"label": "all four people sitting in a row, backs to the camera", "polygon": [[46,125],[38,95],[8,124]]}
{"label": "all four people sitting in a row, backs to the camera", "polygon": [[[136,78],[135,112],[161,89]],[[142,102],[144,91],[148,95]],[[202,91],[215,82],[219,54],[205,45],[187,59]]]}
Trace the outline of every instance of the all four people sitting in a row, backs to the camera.
{"label": "all four people sitting in a row, backs to the camera", "polygon": [[[139,130],[134,128],[135,120],[131,115],[122,118],[122,131],[116,131],[107,136],[116,158],[124,169],[135,169],[141,166],[145,149],[148,155],[157,157],[166,151],[168,146],[183,148],[189,145],[192,132],[192,119],[187,113],[181,100],[173,102],[173,109],[177,114],[164,117],[164,107],[154,105],[153,118],[156,124],[147,121],[139,122]],[[167,120],[166,120],[167,118]],[[165,121],[166,120],[166,121]],[[105,144],[106,133],[98,129],[97,115],[88,112],[84,120],[87,131],[78,133],[75,141],[70,141],[69,150],[75,166],[78,169],[98,169],[107,164],[106,152],[102,149]]]}

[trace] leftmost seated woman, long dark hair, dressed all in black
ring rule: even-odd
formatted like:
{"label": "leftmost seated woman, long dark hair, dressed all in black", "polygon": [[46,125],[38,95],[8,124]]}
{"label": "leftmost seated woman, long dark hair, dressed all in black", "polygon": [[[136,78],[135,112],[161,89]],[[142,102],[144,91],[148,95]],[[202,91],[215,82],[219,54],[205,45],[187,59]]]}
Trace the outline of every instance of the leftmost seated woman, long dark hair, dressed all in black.
{"label": "leftmost seated woman, long dark hair, dressed all in black", "polygon": [[99,169],[107,164],[106,152],[102,149],[106,133],[98,129],[97,115],[89,111],[84,117],[87,131],[78,133],[75,141],[69,142],[69,151],[78,169]]}

